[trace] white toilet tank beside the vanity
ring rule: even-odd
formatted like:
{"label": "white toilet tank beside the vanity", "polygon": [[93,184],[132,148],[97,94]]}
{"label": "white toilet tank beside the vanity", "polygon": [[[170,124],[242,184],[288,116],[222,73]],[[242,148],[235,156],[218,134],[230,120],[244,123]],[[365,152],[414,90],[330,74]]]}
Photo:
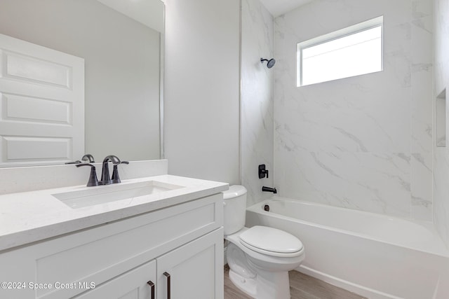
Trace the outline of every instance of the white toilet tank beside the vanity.
{"label": "white toilet tank beside the vanity", "polygon": [[231,235],[245,226],[246,188],[229,186],[229,190],[223,192],[223,205],[225,235]]}

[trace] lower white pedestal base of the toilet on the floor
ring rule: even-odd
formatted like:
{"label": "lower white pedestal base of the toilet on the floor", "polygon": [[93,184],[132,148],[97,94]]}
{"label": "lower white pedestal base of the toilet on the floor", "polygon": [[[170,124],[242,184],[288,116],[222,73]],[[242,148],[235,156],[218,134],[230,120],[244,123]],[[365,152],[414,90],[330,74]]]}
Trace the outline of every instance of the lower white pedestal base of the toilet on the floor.
{"label": "lower white pedestal base of the toilet on the floor", "polygon": [[229,279],[243,293],[255,299],[290,299],[288,272],[259,272],[255,278],[245,278],[229,269]]}

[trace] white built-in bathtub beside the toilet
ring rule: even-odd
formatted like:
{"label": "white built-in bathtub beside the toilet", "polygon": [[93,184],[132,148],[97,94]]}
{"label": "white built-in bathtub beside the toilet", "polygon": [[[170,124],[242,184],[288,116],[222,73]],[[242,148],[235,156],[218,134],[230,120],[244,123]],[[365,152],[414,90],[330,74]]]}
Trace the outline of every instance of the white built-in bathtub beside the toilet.
{"label": "white built-in bathtub beside the toilet", "polygon": [[296,270],[367,298],[449,298],[449,251],[431,223],[273,197],[247,208],[246,225],[295,235]]}

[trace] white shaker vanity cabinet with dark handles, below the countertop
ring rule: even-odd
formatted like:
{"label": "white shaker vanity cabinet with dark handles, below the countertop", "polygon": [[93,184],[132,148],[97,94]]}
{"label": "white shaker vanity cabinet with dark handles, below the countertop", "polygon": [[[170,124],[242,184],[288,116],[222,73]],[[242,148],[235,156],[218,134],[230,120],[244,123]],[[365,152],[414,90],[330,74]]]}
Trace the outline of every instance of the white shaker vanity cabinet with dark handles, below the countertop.
{"label": "white shaker vanity cabinet with dark handles, below the countertop", "polygon": [[16,284],[0,298],[223,298],[222,207],[219,193],[1,252]]}

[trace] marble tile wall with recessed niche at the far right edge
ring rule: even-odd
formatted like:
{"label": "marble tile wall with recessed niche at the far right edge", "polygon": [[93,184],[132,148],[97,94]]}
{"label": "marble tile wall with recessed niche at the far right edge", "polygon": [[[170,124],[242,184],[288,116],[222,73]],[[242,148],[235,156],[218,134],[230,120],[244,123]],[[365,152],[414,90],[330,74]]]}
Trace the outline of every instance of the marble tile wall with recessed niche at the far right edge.
{"label": "marble tile wall with recessed niche at the far right edge", "polygon": [[[435,0],[434,4],[434,98],[449,87],[449,1]],[[446,95],[448,95],[446,93]],[[448,105],[446,105],[448,109]],[[446,120],[448,111],[446,110]],[[434,100],[434,115],[436,106]],[[434,126],[435,118],[434,118]],[[448,125],[448,124],[446,124]],[[447,127],[446,127],[446,132]],[[434,223],[449,246],[449,148],[436,147],[434,138]]]}

